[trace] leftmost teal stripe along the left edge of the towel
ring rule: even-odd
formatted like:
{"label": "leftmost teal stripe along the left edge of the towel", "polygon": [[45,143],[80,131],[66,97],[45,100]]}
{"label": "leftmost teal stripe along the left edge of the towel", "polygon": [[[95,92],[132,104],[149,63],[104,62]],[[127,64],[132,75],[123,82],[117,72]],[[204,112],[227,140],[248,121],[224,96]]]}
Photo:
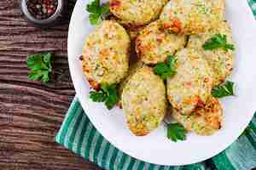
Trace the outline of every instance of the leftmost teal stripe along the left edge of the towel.
{"label": "leftmost teal stripe along the left edge of the towel", "polygon": [[69,124],[72,122],[73,117],[76,115],[78,109],[79,109],[79,102],[73,102],[70,110],[68,111],[69,114],[67,116],[67,120],[65,120],[65,126],[63,126],[63,129],[61,130],[60,141],[59,141],[61,144],[64,144],[64,139],[67,134]]}

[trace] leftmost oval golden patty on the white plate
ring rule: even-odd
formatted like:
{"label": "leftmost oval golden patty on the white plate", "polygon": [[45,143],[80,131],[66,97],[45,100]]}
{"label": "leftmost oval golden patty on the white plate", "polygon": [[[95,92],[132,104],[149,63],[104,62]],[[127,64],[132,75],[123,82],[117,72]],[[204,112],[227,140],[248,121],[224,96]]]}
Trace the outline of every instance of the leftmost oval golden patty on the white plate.
{"label": "leftmost oval golden patty on the white plate", "polygon": [[92,88],[120,82],[129,67],[130,38],[115,21],[105,20],[90,33],[84,44],[82,66]]}

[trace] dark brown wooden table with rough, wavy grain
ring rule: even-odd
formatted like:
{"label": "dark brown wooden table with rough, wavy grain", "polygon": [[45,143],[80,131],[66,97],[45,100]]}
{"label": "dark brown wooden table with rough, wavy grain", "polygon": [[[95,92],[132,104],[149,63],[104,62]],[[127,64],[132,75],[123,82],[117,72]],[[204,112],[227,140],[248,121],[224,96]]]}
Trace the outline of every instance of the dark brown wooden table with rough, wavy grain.
{"label": "dark brown wooden table with rough, wavy grain", "polygon": [[[100,169],[56,144],[54,137],[75,94],[67,65],[68,23],[29,26],[19,0],[0,1],[0,169]],[[55,52],[55,79],[27,79],[26,56]]]}

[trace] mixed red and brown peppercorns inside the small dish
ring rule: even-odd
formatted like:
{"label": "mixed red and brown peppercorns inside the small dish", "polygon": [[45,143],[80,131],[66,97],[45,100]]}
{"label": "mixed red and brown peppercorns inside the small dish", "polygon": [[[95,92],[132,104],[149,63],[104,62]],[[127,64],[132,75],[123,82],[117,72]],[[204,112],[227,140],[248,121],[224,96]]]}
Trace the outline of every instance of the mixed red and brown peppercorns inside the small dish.
{"label": "mixed red and brown peppercorns inside the small dish", "polygon": [[49,18],[52,14],[55,14],[58,6],[57,0],[27,0],[27,9],[32,16],[39,20]]}

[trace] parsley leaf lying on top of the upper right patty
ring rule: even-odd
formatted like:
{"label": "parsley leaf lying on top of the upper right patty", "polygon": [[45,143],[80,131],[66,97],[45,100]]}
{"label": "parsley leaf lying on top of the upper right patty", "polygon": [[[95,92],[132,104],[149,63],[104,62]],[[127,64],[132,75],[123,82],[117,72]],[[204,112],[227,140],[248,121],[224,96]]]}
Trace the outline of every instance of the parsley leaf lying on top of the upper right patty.
{"label": "parsley leaf lying on top of the upper right patty", "polygon": [[215,48],[223,48],[225,51],[234,50],[235,47],[233,44],[227,43],[227,36],[221,34],[215,34],[212,38],[210,38],[204,45],[203,48],[205,50],[212,50]]}

